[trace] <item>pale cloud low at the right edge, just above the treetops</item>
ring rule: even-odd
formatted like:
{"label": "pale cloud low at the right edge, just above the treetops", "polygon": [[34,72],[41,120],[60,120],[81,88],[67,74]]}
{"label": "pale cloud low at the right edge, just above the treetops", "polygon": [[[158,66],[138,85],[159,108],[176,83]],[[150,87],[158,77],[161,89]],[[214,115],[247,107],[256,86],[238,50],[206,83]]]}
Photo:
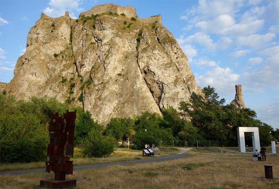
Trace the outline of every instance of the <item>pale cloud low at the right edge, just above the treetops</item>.
{"label": "pale cloud low at the right edge, just above the treetops", "polygon": [[256,108],[257,119],[262,122],[271,125],[273,128],[279,128],[279,104],[268,104],[266,106],[262,106]]}

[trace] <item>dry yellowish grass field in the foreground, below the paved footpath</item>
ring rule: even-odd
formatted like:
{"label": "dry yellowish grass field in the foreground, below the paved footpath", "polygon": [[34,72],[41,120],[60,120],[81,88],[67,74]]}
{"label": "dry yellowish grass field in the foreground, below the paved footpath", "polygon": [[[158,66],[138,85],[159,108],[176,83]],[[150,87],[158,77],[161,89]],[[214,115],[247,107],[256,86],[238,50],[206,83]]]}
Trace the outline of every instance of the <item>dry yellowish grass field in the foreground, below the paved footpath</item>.
{"label": "dry yellowish grass field in the foreground, below the paved footpath", "polygon": [[[163,162],[83,169],[66,178],[77,180],[74,188],[279,188],[279,182],[275,181],[279,178],[278,155],[267,156],[267,161],[253,161],[251,154],[200,149],[187,153],[192,156]],[[263,165],[273,165],[274,181],[264,179]],[[53,173],[1,175],[0,188],[40,188],[40,180],[53,177]]]}

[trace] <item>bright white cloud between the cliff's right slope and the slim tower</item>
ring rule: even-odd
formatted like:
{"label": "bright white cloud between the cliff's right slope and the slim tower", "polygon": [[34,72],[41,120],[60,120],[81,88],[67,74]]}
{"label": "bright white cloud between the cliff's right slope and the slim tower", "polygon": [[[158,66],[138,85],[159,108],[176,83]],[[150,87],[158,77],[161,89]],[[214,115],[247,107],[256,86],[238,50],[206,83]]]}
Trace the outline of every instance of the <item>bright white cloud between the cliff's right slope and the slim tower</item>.
{"label": "bright white cloud between the cliff's right slope and the slim tower", "polygon": [[203,87],[210,85],[214,87],[219,96],[232,95],[230,91],[234,89],[235,83],[238,83],[240,75],[232,73],[232,70],[228,67],[214,68],[205,75],[196,77],[197,85]]}

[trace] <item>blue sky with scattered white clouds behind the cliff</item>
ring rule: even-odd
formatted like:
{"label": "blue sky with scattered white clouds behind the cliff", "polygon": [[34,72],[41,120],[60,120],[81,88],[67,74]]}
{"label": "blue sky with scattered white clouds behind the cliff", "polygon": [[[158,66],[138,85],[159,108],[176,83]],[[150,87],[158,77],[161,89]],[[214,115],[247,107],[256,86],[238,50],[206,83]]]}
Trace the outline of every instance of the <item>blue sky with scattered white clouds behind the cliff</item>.
{"label": "blue sky with scattered white clouds behind the cliff", "polygon": [[189,59],[197,85],[216,89],[226,103],[241,84],[247,108],[279,128],[279,1],[0,0],[0,79],[9,82],[41,12],[77,18],[95,5],[133,6],[138,17],[162,15],[162,24]]}

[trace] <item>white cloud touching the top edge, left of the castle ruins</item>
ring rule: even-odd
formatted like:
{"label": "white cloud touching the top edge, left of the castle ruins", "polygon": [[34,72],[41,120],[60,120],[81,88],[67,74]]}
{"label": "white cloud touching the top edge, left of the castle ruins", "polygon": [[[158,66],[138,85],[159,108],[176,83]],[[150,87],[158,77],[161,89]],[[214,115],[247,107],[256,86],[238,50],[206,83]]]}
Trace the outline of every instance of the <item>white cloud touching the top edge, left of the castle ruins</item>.
{"label": "white cloud touching the top edge, left of the castle ruins", "polygon": [[80,2],[81,0],[50,0],[50,7],[46,7],[43,12],[50,17],[60,17],[68,11],[70,17],[75,17],[73,11],[83,11],[83,8],[79,8]]}

